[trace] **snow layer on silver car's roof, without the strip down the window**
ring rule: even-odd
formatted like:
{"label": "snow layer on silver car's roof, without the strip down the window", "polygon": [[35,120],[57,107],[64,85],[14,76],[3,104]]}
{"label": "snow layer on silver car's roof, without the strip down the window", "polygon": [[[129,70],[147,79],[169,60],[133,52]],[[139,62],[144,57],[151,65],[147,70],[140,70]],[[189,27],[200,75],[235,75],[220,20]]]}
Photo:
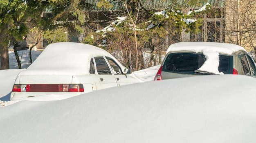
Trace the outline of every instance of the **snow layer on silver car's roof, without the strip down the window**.
{"label": "snow layer on silver car's roof, without the strip down the window", "polygon": [[215,42],[180,42],[174,43],[169,46],[166,50],[168,52],[179,52],[179,51],[188,51],[188,52],[218,52],[221,54],[231,55],[234,52],[239,50],[245,50],[245,48],[230,44],[230,43],[215,43]]}

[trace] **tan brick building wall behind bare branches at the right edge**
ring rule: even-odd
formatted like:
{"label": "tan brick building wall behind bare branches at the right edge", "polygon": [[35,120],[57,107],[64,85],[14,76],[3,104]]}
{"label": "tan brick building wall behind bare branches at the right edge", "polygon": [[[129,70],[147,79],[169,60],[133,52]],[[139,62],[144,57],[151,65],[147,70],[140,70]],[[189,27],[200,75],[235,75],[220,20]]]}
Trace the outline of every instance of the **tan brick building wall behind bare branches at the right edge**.
{"label": "tan brick building wall behind bare branches at the right edge", "polygon": [[256,1],[255,0],[227,0],[226,42],[243,46],[248,52],[254,51],[256,46]]}

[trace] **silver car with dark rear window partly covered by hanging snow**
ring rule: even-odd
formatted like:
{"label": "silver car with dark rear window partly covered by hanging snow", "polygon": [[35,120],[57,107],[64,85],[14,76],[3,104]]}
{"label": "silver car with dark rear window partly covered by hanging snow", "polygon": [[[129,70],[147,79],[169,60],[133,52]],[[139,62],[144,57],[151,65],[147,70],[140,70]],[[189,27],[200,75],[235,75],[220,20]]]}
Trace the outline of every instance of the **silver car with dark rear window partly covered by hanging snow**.
{"label": "silver car with dark rear window partly covered by hanging snow", "polygon": [[181,42],[169,46],[155,80],[206,74],[242,74],[256,77],[254,61],[235,44]]}

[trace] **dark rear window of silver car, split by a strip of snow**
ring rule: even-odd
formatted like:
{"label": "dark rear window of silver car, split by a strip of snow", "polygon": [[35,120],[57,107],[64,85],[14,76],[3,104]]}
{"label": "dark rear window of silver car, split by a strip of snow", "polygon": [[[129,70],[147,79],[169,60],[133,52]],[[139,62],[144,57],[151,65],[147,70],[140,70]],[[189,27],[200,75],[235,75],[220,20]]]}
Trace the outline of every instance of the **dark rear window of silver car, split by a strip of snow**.
{"label": "dark rear window of silver car, split by a strip of snow", "polygon": [[[224,74],[232,74],[232,56],[219,55],[220,63],[218,70]],[[171,53],[168,54],[163,65],[163,72],[173,72],[179,74],[194,74],[206,61],[203,53]]]}

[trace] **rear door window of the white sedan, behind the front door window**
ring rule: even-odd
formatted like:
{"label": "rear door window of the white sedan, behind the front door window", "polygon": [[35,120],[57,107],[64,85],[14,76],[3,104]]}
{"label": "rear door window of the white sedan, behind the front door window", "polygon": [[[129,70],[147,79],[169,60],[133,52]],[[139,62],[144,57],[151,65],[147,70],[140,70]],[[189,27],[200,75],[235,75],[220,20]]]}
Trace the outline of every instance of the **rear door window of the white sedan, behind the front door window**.
{"label": "rear door window of the white sedan, behind the front door window", "polygon": [[110,69],[105,59],[103,58],[103,56],[95,57],[94,59],[95,59],[96,69],[98,74],[111,74]]}

